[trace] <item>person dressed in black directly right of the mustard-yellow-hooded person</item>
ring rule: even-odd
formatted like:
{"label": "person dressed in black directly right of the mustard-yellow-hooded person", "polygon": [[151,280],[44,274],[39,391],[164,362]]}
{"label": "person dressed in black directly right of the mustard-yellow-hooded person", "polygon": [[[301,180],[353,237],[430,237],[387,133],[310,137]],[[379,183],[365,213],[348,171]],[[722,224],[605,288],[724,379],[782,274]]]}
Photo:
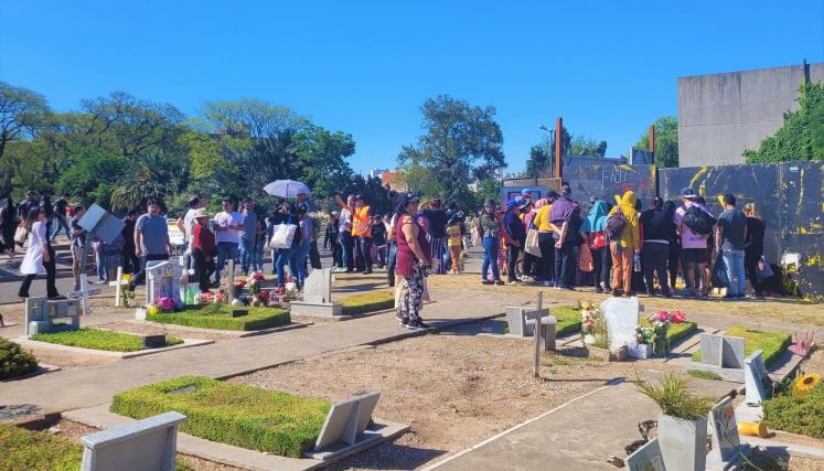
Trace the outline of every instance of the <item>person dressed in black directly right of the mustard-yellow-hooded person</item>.
{"label": "person dressed in black directly right of the mustard-yellow-hooded person", "polygon": [[675,222],[672,214],[664,211],[664,200],[660,196],[652,200],[652,208],[641,213],[641,227],[644,240],[641,256],[646,279],[646,296],[654,295],[653,274],[655,274],[661,283],[661,293],[665,298],[671,298],[666,263],[670,258],[670,240],[675,234]]}

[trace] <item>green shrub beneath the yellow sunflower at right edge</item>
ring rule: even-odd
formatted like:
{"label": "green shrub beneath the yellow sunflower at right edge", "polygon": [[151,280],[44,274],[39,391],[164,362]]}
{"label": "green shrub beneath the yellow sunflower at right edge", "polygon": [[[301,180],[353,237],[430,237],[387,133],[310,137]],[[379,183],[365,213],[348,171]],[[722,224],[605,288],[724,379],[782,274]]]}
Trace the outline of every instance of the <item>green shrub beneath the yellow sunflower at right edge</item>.
{"label": "green shrub beneath the yellow sunflower at right edge", "polygon": [[824,383],[812,388],[805,397],[785,394],[761,404],[767,427],[824,439]]}

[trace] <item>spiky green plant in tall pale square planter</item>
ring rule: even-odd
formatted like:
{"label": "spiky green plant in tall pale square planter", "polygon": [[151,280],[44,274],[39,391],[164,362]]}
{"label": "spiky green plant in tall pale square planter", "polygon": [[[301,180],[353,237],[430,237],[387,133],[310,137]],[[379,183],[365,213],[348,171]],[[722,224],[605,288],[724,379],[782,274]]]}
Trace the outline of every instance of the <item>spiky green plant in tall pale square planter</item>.
{"label": "spiky green plant in tall pale square planter", "polygon": [[713,399],[687,389],[688,379],[675,373],[657,385],[636,378],[638,390],[661,407],[657,440],[667,471],[704,471],[707,462],[707,413]]}

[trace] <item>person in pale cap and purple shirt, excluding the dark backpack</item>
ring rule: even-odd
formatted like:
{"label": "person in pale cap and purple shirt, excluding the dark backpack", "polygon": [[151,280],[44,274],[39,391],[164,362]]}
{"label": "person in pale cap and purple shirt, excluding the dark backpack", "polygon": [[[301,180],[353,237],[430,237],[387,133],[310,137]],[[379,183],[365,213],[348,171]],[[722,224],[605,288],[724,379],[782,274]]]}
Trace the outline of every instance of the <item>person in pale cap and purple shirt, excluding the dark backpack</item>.
{"label": "person in pale cap and purple shirt, excluding the dark backpack", "polygon": [[[684,281],[686,282],[686,296],[699,297],[703,293],[699,291],[700,280],[704,279],[704,286],[709,286],[709,277],[707,274],[707,238],[708,235],[696,234],[689,226],[684,224],[684,216],[687,210],[692,206],[696,206],[705,213],[709,214],[706,207],[703,207],[696,202],[698,195],[686,186],[681,190],[681,201],[684,203],[683,206],[675,211],[675,229],[681,236],[682,247],[682,266],[684,270]],[[708,291],[707,293],[708,295]]]}

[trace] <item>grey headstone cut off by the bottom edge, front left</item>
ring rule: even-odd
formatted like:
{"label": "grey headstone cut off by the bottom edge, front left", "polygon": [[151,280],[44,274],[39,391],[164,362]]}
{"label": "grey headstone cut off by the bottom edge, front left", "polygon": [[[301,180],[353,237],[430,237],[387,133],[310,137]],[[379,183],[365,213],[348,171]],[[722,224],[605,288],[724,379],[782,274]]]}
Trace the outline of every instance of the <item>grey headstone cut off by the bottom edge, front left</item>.
{"label": "grey headstone cut off by the bottom edge, front left", "polygon": [[82,471],[174,471],[178,425],[186,417],[171,411],[81,438]]}

